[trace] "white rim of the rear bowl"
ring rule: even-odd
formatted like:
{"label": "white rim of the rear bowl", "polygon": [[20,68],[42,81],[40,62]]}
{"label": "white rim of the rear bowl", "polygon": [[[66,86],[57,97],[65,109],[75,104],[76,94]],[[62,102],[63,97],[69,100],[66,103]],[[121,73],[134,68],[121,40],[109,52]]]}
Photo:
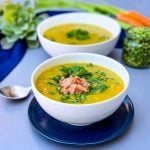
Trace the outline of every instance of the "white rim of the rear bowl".
{"label": "white rim of the rear bowl", "polygon": [[[116,25],[118,26],[118,27],[117,27],[117,28],[118,28],[118,33],[114,36],[114,35],[112,34],[112,32],[111,32],[109,29],[106,29],[105,27],[101,27],[101,26],[99,26],[99,25],[95,25],[95,26],[104,28],[104,29],[108,30],[109,32],[111,32],[112,37],[111,37],[110,39],[105,40],[105,41],[102,41],[102,42],[91,43],[91,44],[83,44],[83,45],[81,45],[81,44],[73,45],[73,44],[59,43],[59,42],[55,42],[55,41],[49,40],[49,39],[47,39],[47,38],[45,38],[45,37],[43,36],[43,34],[41,33],[40,28],[41,28],[41,26],[42,26],[44,23],[46,23],[48,20],[52,20],[53,18],[57,18],[57,17],[59,17],[59,16],[61,16],[61,17],[64,16],[64,17],[65,17],[66,15],[72,15],[72,14],[73,14],[73,15],[74,15],[74,14],[77,14],[77,15],[81,15],[81,14],[89,15],[89,14],[90,14],[90,15],[94,15],[94,16],[99,16],[99,17],[107,18],[107,19],[109,19],[109,20],[111,20],[111,21],[113,21],[113,22],[116,23]],[[67,24],[67,23],[63,23],[63,24]],[[92,24],[90,24],[90,23],[87,23],[87,24],[92,25]],[[62,25],[62,24],[59,24],[59,25]],[[54,25],[53,27],[55,27],[55,26],[57,26],[57,25]],[[45,31],[46,31],[47,29],[48,29],[48,28],[46,28]],[[44,19],[43,21],[41,21],[41,22],[38,24],[38,26],[37,26],[37,33],[38,33],[38,36],[40,36],[43,40],[45,40],[46,42],[50,42],[50,43],[52,43],[52,44],[61,45],[61,46],[66,46],[66,47],[68,47],[68,46],[69,46],[69,47],[91,47],[91,46],[98,46],[98,45],[103,45],[103,44],[109,43],[109,42],[113,41],[115,38],[119,37],[119,35],[120,35],[120,33],[121,33],[121,26],[119,25],[119,23],[118,23],[115,19],[113,19],[113,18],[111,18],[111,17],[109,17],[109,16],[106,16],[106,15],[103,15],[103,14],[97,14],[97,13],[93,13],[93,12],[67,12],[67,13],[58,14],[58,15],[55,15],[55,16],[52,16],[52,17],[48,17],[47,19]]]}

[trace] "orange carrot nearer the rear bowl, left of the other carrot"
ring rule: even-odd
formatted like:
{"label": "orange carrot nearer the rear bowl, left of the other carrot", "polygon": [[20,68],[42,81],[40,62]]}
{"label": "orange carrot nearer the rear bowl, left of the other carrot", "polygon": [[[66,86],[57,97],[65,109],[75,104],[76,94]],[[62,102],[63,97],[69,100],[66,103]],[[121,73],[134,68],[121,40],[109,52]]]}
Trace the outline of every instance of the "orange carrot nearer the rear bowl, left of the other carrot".
{"label": "orange carrot nearer the rear bowl, left of the other carrot", "polygon": [[128,24],[130,24],[132,26],[144,26],[143,23],[141,23],[141,22],[139,22],[139,21],[129,17],[127,13],[119,13],[117,15],[117,19],[121,20],[121,21],[124,21],[124,22],[126,22],[126,23],[128,23]]}

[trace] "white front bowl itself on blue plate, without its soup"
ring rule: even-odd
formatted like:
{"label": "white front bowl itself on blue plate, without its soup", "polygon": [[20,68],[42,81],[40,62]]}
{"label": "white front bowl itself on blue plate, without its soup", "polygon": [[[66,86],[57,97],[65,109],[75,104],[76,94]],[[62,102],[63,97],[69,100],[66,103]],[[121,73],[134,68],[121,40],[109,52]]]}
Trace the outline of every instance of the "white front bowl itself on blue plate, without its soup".
{"label": "white front bowl itself on blue plate, without its soup", "polygon": [[[37,90],[35,81],[44,70],[49,67],[71,62],[91,62],[111,69],[123,79],[125,84],[124,90],[108,100],[92,104],[67,104],[58,102],[44,96]],[[40,64],[34,70],[31,78],[33,93],[40,106],[54,118],[74,125],[91,124],[115,112],[126,96],[128,84],[128,72],[120,63],[106,56],[88,53],[66,54],[51,58]]]}

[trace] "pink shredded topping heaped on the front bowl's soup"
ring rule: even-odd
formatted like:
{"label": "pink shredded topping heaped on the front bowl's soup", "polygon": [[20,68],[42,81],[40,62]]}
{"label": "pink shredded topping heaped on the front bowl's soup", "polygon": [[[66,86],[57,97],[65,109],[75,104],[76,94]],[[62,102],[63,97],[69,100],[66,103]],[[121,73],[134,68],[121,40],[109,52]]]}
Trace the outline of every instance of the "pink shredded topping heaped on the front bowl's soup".
{"label": "pink shredded topping heaped on the front bowl's soup", "polygon": [[85,93],[90,87],[90,84],[87,82],[86,79],[80,78],[78,76],[62,78],[59,81],[59,85],[61,87],[61,92],[64,95]]}

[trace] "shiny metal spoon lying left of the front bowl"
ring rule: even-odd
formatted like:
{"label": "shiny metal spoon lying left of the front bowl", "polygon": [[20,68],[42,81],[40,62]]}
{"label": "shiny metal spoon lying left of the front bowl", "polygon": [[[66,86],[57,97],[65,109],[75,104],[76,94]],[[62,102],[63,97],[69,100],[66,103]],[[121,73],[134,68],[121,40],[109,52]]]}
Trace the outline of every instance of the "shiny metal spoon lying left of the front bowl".
{"label": "shiny metal spoon lying left of the front bowl", "polygon": [[0,88],[0,95],[10,100],[21,100],[26,98],[31,90],[31,87],[5,86]]}

